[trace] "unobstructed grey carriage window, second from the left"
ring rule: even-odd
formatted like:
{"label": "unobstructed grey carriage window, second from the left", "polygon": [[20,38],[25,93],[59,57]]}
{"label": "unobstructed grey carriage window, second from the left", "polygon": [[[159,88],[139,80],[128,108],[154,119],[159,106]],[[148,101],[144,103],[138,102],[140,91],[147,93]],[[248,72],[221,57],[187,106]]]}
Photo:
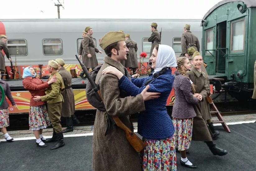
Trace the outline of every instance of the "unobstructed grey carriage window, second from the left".
{"label": "unobstructed grey carriage window, second from the left", "polygon": [[43,39],[44,55],[62,55],[61,39]]}

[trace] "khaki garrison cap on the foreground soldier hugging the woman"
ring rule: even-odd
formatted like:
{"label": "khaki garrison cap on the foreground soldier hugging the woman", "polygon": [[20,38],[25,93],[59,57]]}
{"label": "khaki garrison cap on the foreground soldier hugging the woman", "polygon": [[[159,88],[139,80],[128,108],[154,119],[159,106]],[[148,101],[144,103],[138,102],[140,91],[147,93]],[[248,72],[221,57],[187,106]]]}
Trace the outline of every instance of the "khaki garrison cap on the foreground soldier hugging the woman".
{"label": "khaki garrison cap on the foreground soldier hugging the woman", "polygon": [[109,31],[100,40],[100,47],[105,49],[112,43],[125,41],[124,33],[120,31]]}

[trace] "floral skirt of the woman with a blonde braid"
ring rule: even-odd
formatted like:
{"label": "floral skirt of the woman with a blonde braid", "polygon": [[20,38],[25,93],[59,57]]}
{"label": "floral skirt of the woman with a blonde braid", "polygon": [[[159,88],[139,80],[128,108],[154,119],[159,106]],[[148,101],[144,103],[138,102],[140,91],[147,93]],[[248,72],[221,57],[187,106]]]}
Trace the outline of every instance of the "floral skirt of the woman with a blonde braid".
{"label": "floral skirt of the woman with a blonde braid", "polygon": [[172,120],[175,129],[175,144],[179,151],[189,149],[192,139],[193,118]]}

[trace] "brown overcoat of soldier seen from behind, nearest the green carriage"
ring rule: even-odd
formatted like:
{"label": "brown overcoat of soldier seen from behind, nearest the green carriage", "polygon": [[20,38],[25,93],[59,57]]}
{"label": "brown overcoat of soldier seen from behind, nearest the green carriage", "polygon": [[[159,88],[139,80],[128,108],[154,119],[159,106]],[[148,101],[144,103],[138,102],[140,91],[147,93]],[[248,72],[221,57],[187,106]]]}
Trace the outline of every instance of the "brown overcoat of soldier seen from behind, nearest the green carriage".
{"label": "brown overcoat of soldier seen from behind, nearest the green carriage", "polygon": [[180,56],[185,56],[185,53],[187,53],[187,46],[190,43],[195,44],[196,46],[193,46],[193,47],[195,48],[196,51],[199,52],[200,44],[199,44],[198,38],[193,33],[191,33],[191,31],[187,31],[187,32],[184,32],[181,35],[181,50],[182,50],[182,53],[181,53]]}

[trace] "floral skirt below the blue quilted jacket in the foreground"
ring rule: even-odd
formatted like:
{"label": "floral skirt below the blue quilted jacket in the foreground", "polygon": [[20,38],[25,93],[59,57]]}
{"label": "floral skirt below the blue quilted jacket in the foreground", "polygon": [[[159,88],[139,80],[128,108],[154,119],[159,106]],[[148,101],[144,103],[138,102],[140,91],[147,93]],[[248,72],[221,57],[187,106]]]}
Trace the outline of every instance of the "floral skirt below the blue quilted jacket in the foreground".
{"label": "floral skirt below the blue quilted jacket in the foreground", "polygon": [[154,140],[143,138],[147,144],[140,156],[142,170],[177,170],[174,135],[166,139]]}

